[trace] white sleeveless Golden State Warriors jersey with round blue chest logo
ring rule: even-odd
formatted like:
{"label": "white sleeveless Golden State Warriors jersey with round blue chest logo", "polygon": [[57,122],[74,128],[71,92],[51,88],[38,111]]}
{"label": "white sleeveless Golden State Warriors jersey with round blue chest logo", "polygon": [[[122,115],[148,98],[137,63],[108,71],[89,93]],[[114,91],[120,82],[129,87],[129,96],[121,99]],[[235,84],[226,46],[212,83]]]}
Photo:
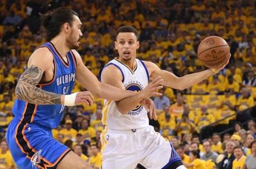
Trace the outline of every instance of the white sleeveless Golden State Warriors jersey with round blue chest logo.
{"label": "white sleeveless Golden State Warriors jersey with round blue chest logo", "polygon": [[[117,59],[111,60],[106,66],[115,65],[122,74],[122,83],[126,90],[141,91],[144,89],[149,81],[149,72],[145,64],[135,59],[136,67],[134,72]],[[104,68],[102,71],[104,71]],[[115,75],[113,75],[115,76]],[[100,78],[102,76],[100,74]],[[145,107],[138,105],[134,110],[127,112],[125,115],[121,114],[117,110],[115,101],[105,100],[104,107],[102,109],[102,124],[107,125],[112,130],[131,130],[140,129],[149,125],[149,119],[147,118],[147,111]]]}

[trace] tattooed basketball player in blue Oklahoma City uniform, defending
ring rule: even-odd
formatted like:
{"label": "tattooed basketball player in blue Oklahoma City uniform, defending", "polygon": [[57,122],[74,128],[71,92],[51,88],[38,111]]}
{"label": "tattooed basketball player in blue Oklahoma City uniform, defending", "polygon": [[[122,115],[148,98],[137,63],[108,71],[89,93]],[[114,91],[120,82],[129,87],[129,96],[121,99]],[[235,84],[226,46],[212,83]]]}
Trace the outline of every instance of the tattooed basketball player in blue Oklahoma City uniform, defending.
{"label": "tattooed basketball player in blue Oklahoma City uniform, defending", "polygon": [[[51,129],[60,124],[65,106],[92,105],[93,96],[118,101],[135,93],[100,83],[83,64],[74,50],[82,37],[77,13],[58,8],[47,13],[42,24],[48,42],[32,53],[18,80],[14,118],[6,135],[9,150],[21,169],[90,168],[67,146],[54,140]],[[71,94],[75,78],[88,91]],[[160,81],[152,81],[144,92],[145,99],[159,95],[155,91],[161,88]]]}

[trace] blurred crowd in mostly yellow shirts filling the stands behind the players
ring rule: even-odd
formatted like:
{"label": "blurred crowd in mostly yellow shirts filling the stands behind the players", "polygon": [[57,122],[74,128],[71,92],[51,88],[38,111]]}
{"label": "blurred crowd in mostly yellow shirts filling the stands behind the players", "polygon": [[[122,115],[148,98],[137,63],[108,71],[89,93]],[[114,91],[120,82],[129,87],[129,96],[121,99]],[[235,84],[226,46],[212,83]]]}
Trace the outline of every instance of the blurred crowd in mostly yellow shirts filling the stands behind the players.
{"label": "blurred crowd in mostly yellow shirts filling the stands behind the players", "polygon": [[[150,124],[173,142],[190,167],[192,164],[196,168],[200,166],[198,163],[206,161],[208,168],[227,168],[220,167],[223,159],[239,161],[243,158],[244,161],[243,154],[252,154],[247,161],[253,161],[256,156],[256,144],[252,144],[256,138],[255,122],[248,122],[245,130],[243,125],[235,123],[236,116],[230,115],[255,105],[255,1],[3,0],[0,1],[0,169],[13,166],[7,162],[11,161],[7,160],[11,155],[5,153],[8,151],[4,148],[8,148],[4,147],[4,133],[12,120],[17,79],[26,69],[29,55],[45,43],[41,15],[56,7],[68,7],[80,15],[83,37],[78,52],[96,76],[102,66],[118,57],[114,35],[121,25],[133,25],[139,30],[137,58],[150,60],[177,76],[205,69],[196,57],[203,38],[218,35],[227,40],[232,54],[230,64],[192,88],[183,91],[161,89],[164,95],[153,98],[158,119],[150,120]],[[86,89],[76,83],[73,92],[83,90]],[[68,107],[60,126],[52,131],[55,139],[72,148],[95,169],[100,168],[102,161],[103,106],[102,99],[95,99],[89,107]],[[222,138],[214,134],[202,142],[198,136],[201,129],[228,116],[216,125],[226,129],[232,122],[234,135],[225,134]],[[250,144],[254,148],[250,149]],[[238,162],[234,160],[233,163]]]}

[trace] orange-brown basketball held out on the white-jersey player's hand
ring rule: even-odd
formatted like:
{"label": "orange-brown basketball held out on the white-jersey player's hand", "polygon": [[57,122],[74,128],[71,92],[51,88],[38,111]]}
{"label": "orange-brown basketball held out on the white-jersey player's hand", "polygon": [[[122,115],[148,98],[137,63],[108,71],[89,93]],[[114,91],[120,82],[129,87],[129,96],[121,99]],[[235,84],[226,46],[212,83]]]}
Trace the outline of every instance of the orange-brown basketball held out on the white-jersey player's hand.
{"label": "orange-brown basketball held out on the white-jersey player's hand", "polygon": [[198,46],[198,58],[207,68],[219,68],[229,58],[229,45],[221,37],[210,36]]}

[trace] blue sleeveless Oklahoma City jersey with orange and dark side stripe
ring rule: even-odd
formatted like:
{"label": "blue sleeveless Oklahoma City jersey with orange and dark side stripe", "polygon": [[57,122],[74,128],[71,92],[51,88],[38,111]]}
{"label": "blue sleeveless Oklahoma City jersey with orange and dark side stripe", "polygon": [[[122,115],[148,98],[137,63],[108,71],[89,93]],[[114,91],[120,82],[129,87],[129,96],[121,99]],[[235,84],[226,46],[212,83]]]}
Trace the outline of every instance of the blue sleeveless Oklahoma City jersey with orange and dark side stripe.
{"label": "blue sleeveless Oklahoma City jersey with orange and dark side stripe", "polygon": [[[71,94],[76,75],[75,55],[70,50],[66,55],[68,60],[66,63],[51,42],[47,42],[38,48],[42,47],[47,47],[52,52],[55,73],[51,81],[38,84],[37,87],[52,93]],[[12,112],[14,118],[22,122],[36,124],[44,129],[51,130],[60,124],[64,109],[64,105],[37,105],[16,98]]]}

